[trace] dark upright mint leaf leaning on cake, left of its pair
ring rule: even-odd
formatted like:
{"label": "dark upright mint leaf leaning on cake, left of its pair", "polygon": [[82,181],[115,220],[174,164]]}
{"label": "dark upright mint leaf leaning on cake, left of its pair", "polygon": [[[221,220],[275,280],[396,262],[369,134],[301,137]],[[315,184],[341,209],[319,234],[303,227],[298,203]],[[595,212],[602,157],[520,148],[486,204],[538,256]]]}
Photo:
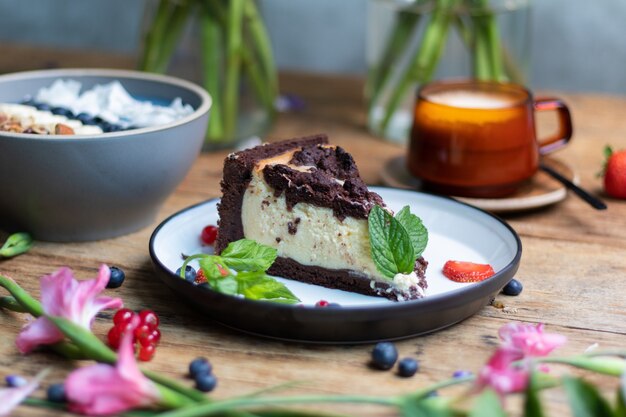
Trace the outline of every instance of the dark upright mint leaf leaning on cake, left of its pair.
{"label": "dark upright mint leaf leaning on cake, left of its pair", "polygon": [[408,274],[415,267],[411,238],[402,224],[386,210],[374,206],[368,218],[372,259],[387,278]]}

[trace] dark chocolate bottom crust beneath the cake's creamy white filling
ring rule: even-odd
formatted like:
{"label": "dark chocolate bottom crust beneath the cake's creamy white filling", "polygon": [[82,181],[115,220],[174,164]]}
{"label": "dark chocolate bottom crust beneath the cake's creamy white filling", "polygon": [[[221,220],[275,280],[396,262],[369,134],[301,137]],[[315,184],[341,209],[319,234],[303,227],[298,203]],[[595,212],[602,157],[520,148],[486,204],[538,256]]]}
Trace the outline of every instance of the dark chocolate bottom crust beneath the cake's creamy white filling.
{"label": "dark chocolate bottom crust beneath the cake's creamy white filling", "polygon": [[[415,273],[420,278],[418,284],[422,289],[427,288],[426,267],[428,262],[419,257],[415,262]],[[302,265],[293,259],[277,258],[268,270],[271,275],[305,282],[307,284],[321,285],[326,288],[356,292],[365,295],[386,297],[394,301],[415,300],[421,298],[417,288],[411,289],[410,293],[398,291],[389,284],[376,281],[372,284],[371,278],[349,269],[327,269],[319,266]]]}

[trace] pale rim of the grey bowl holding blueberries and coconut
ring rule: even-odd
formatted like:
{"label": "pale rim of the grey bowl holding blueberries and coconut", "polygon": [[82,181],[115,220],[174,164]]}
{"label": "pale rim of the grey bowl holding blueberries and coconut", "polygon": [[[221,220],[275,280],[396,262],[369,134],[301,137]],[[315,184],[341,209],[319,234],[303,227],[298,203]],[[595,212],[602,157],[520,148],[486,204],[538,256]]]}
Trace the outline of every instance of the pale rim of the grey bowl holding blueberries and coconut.
{"label": "pale rim of the grey bowl holding blueberries and coconut", "polygon": [[[9,74],[0,75],[0,83],[4,83],[7,81],[13,80],[28,80],[28,79],[38,79],[44,77],[54,77],[62,78],[62,77],[85,77],[85,76],[99,76],[99,77],[109,77],[111,79],[119,79],[119,78],[127,78],[127,79],[135,79],[135,80],[143,80],[143,81],[152,81],[163,84],[170,84],[177,87],[181,87],[183,89],[187,89],[195,94],[197,94],[200,99],[200,105],[198,108],[194,109],[194,112],[183,117],[177,119],[171,123],[158,125],[158,126],[150,126],[150,127],[142,127],[138,129],[124,130],[120,132],[105,132],[99,134],[91,134],[91,135],[38,135],[34,133],[14,133],[14,132],[2,132],[0,131],[0,138],[13,138],[13,139],[29,139],[34,141],[44,140],[47,142],[67,142],[67,141],[76,141],[77,139],[81,140],[101,140],[106,138],[113,137],[126,137],[126,136],[134,136],[137,134],[156,132],[160,130],[171,129],[177,126],[184,125],[189,123],[192,120],[195,120],[199,117],[202,117],[204,114],[208,113],[209,109],[213,104],[213,99],[211,95],[201,86],[191,82],[184,80],[182,78],[173,77],[171,75],[163,75],[163,74],[155,74],[144,71],[137,70],[126,70],[126,69],[112,69],[112,68],[58,68],[58,69],[44,69],[44,70],[35,70],[35,71],[21,71],[14,72]],[[19,136],[18,136],[19,135]]]}

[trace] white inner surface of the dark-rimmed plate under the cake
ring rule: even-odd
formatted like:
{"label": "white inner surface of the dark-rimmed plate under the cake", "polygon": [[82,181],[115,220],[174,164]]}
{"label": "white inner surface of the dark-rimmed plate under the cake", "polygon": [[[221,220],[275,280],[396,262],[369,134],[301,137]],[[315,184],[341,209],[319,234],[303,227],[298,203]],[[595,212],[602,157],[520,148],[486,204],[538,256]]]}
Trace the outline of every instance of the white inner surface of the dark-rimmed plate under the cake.
{"label": "white inner surface of the dark-rimmed plate under the cake", "polygon": [[[456,283],[442,274],[448,260],[488,263],[496,272],[509,265],[520,250],[515,233],[500,220],[471,206],[452,199],[429,194],[370,187],[383,198],[395,212],[409,205],[419,216],[429,232],[429,242],[424,258],[429,262],[425,297],[448,293],[468,285]],[[202,228],[217,224],[216,204],[211,200],[193,206],[172,216],[154,237],[155,256],[172,272],[182,264],[181,254],[211,253],[212,247],[200,240]],[[197,268],[197,264],[191,264]],[[284,282],[304,304],[319,300],[339,303],[342,306],[367,306],[393,303],[384,298],[365,296],[346,291],[332,290],[316,285],[278,278]]]}

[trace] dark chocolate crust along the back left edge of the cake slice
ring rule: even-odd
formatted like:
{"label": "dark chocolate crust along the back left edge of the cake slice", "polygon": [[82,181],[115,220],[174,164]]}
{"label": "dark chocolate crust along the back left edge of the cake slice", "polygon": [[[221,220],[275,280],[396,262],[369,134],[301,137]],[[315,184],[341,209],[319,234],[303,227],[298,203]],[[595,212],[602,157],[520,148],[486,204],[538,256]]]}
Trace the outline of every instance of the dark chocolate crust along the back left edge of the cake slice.
{"label": "dark chocolate crust along the back left edge of the cake slice", "polygon": [[326,135],[306,136],[282,142],[268,143],[228,155],[224,160],[222,199],[217,205],[219,233],[215,250],[220,253],[230,242],[242,239],[241,205],[252,179],[252,168],[262,159],[271,158],[290,149],[328,143]]}

